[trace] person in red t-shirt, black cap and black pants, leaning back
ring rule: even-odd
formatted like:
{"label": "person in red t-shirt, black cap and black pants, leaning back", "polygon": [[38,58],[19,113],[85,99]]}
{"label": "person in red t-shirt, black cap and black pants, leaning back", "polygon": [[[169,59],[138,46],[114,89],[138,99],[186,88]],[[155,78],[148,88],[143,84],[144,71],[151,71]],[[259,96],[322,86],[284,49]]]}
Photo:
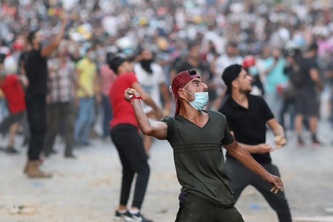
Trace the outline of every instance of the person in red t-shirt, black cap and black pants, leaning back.
{"label": "person in red t-shirt, black cap and black pants, leaning back", "polygon": [[[111,125],[111,138],[115,144],[120,161],[123,165],[123,181],[120,205],[116,210],[115,219],[126,221],[149,222],[140,213],[140,208],[146,193],[150,169],[147,156],[139,135],[139,126],[131,104],[124,100],[124,89],[135,88],[140,91],[142,100],[153,107],[158,116],[162,111],[152,98],[143,90],[133,72],[134,64],[122,56],[116,56],[109,62],[110,68],[117,74],[117,78],[110,88],[110,102],[113,110]],[[130,196],[130,189],[134,174],[138,173],[132,208],[127,210],[126,205]]]}

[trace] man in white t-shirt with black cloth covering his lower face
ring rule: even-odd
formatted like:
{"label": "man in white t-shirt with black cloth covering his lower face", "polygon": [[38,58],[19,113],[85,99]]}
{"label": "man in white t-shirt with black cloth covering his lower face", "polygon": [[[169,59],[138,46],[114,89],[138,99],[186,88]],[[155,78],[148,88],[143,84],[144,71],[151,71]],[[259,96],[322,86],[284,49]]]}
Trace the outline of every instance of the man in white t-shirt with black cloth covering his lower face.
{"label": "man in white t-shirt with black cloth covering his lower face", "polygon": [[[154,62],[154,55],[151,50],[143,49],[139,55],[139,62],[134,65],[134,72],[138,82],[143,89],[149,94],[156,105],[162,108],[161,93],[164,98],[164,115],[169,116],[171,113],[171,100],[166,87],[166,77],[161,65]],[[151,122],[159,121],[152,107],[144,102],[142,103],[144,112]],[[144,135],[144,146],[147,156],[152,144],[152,137]]]}

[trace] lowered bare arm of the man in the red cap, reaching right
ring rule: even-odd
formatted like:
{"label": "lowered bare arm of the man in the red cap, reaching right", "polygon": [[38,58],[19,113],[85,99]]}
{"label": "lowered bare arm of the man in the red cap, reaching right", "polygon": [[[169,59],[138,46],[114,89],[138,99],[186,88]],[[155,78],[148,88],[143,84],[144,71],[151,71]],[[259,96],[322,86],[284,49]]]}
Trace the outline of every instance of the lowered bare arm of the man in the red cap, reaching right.
{"label": "lowered bare arm of the man in the red cap, reaching right", "polygon": [[277,193],[279,189],[283,191],[283,183],[278,176],[274,176],[267,172],[258,162],[256,162],[252,156],[241,147],[236,141],[228,145],[223,145],[223,147],[228,151],[228,153],[236,158],[241,164],[249,168],[254,173],[260,175],[264,180],[271,183],[271,191]]}

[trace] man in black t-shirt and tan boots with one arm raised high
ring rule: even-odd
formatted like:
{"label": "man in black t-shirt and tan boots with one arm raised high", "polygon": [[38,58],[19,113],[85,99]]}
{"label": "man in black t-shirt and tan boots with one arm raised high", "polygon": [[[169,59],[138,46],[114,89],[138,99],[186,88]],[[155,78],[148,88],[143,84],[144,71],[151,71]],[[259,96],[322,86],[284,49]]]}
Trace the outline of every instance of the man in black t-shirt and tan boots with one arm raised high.
{"label": "man in black t-shirt and tan boots with one arm raised high", "polygon": [[57,49],[63,38],[68,16],[63,15],[59,33],[52,42],[42,47],[40,31],[30,32],[28,42],[31,50],[25,55],[24,69],[29,80],[25,102],[28,112],[31,138],[28,150],[28,162],[24,172],[29,177],[50,177],[38,168],[39,156],[44,146],[46,135],[46,94],[47,94],[47,56]]}

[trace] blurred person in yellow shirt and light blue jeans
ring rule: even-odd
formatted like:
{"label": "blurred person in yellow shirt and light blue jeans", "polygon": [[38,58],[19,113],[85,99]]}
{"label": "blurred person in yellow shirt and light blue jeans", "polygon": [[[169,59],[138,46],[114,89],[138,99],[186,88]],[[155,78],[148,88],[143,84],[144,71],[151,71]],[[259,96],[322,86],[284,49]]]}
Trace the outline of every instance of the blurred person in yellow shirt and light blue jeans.
{"label": "blurred person in yellow shirt and light blue jeans", "polygon": [[95,95],[100,100],[97,90],[96,53],[88,49],[86,56],[77,63],[77,97],[79,99],[78,116],[74,129],[76,145],[89,145],[89,133],[95,116]]}

